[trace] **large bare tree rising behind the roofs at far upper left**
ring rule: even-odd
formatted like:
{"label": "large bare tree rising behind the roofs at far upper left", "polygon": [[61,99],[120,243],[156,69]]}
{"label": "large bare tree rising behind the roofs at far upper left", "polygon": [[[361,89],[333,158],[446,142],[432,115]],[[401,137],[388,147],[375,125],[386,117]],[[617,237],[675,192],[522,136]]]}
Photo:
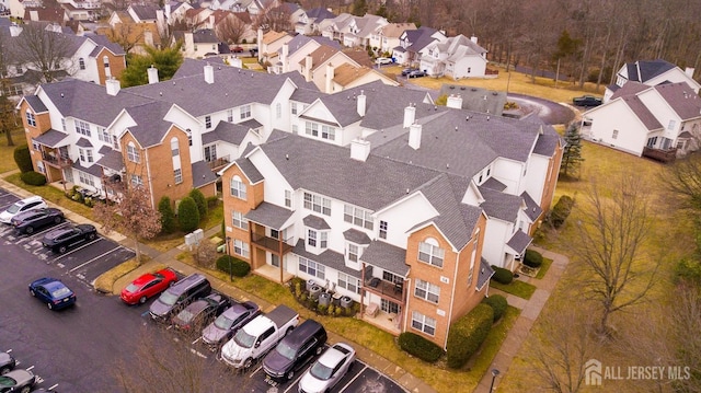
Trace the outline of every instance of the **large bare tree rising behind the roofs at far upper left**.
{"label": "large bare tree rising behind the roofs at far upper left", "polygon": [[73,42],[62,33],[46,30],[44,24],[31,23],[22,26],[13,53],[18,59],[42,72],[44,82],[51,82],[56,71],[70,73],[69,59]]}

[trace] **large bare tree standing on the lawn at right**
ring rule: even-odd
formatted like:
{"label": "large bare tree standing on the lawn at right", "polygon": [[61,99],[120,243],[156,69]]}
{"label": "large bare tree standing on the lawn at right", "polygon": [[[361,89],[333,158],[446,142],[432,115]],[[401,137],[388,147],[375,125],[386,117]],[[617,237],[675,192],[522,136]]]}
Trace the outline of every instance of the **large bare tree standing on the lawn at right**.
{"label": "large bare tree standing on the lawn at right", "polygon": [[621,174],[604,189],[594,181],[577,201],[579,239],[573,244],[583,268],[585,293],[599,305],[598,331],[611,334],[611,314],[642,302],[655,282],[660,257],[644,251],[653,212],[640,176]]}

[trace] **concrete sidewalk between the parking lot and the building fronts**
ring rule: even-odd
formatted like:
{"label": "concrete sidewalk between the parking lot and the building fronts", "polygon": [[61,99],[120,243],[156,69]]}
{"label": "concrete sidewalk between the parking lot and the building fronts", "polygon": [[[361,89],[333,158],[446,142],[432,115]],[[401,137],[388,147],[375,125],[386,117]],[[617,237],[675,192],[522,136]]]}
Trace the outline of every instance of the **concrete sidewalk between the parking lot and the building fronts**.
{"label": "concrete sidewalk between the parking lot and the building fronts", "polygon": [[[18,172],[18,171],[14,171]],[[9,173],[4,173],[2,174],[2,176],[7,176],[9,174],[12,174],[14,172],[9,172]],[[0,178],[0,187],[22,197],[28,197],[32,195],[32,193],[27,192],[24,188],[20,188],[18,186],[15,186],[12,183],[9,183],[7,181],[4,181],[3,178]],[[56,204],[53,204],[50,200],[47,200],[47,204],[50,207],[56,207],[58,208],[58,206],[56,206]],[[80,216],[76,212],[72,212],[70,210],[66,210],[66,209],[61,209],[64,210],[66,218],[76,222],[76,223],[90,223],[95,226],[95,228],[97,228],[97,230],[100,231],[101,226],[96,222],[93,222],[91,220],[89,220],[88,218]],[[215,228],[211,228],[207,231],[205,231],[205,239],[209,239],[214,235],[216,235],[217,233],[219,233],[221,231],[221,227],[217,226]],[[120,233],[117,232],[111,232],[111,233],[103,233],[102,231],[100,231],[101,234],[105,238],[112,239],[115,242],[129,247],[129,248],[134,248],[134,242],[130,239],[127,239],[126,236],[122,235]],[[184,241],[184,240],[183,240]],[[138,277],[139,275],[147,273],[147,271],[153,271],[153,269],[156,268],[156,266],[158,265],[166,265],[173,269],[175,269],[176,271],[183,274],[183,275],[191,275],[193,273],[200,273],[203,275],[205,275],[209,281],[211,282],[211,286],[214,289],[226,293],[227,296],[240,300],[240,301],[248,301],[251,300],[255,303],[257,303],[261,307],[261,310],[263,311],[271,311],[272,309],[274,309],[277,304],[272,304],[258,297],[256,297],[253,293],[249,293],[249,292],[244,292],[242,290],[240,290],[239,288],[234,287],[233,285],[231,285],[231,282],[229,282],[228,280],[221,280],[217,277],[214,277],[209,274],[207,274],[206,271],[202,271],[199,269],[197,269],[195,266],[191,266],[187,265],[181,261],[176,259],[176,256],[183,252],[186,251],[185,245],[182,244],[175,248],[171,248],[168,252],[163,253],[160,252],[147,244],[139,244],[139,250],[143,255],[148,255],[150,257],[150,261],[141,266],[139,266],[138,268],[136,268],[135,270],[124,275],[123,277],[118,278],[113,286],[113,294],[118,296],[122,288],[124,288],[127,284],[129,284],[131,280],[134,280],[136,277]],[[426,384],[424,381],[417,379],[416,377],[412,375],[411,373],[409,373],[406,370],[400,368],[399,366],[392,363],[391,361],[387,360],[386,358],[383,358],[382,356],[380,356],[379,354],[376,354],[375,351],[370,350],[369,348],[363,347],[358,344],[356,344],[353,340],[353,337],[343,337],[340,336],[333,332],[329,332],[329,342],[330,343],[337,343],[337,342],[350,342],[353,343],[353,347],[356,349],[357,356],[360,360],[363,360],[364,362],[368,363],[370,367],[377,369],[378,371],[382,372],[383,374],[390,377],[392,380],[394,380],[397,383],[399,383],[400,385],[402,385],[404,389],[406,389],[410,392],[416,392],[416,393],[435,393],[436,391],[430,388],[428,384]]]}

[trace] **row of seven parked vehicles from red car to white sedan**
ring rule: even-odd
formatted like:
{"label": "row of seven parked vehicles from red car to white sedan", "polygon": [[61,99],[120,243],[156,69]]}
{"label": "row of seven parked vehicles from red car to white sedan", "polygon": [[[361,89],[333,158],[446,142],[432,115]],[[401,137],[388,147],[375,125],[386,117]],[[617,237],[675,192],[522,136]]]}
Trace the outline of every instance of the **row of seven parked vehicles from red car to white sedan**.
{"label": "row of seven parked vehicles from red car to white sedan", "polygon": [[262,314],[254,302],[212,292],[200,274],[182,279],[170,269],[145,274],[124,288],[122,300],[142,304],[159,293],[149,307],[152,320],[170,323],[179,332],[202,334],[202,342],[235,369],[246,370],[262,360],[269,378],[291,380],[317,358],[300,379],[298,392],[327,392],[355,361],[355,350],[344,343],[324,351],[327,334],[319,322],[299,324],[299,314],[286,305]]}

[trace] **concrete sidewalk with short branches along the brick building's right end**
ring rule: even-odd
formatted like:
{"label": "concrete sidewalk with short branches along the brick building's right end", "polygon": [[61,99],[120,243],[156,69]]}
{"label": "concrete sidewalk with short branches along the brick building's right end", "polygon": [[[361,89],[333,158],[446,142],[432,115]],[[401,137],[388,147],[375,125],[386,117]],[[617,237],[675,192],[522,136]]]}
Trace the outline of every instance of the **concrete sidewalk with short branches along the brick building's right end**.
{"label": "concrete sidewalk with short branches along the brick building's right end", "polygon": [[[509,305],[521,310],[521,314],[518,316],[516,323],[506,335],[506,339],[504,339],[502,348],[496,354],[494,360],[492,360],[492,365],[490,365],[490,368],[487,369],[496,369],[499,371],[501,375],[504,375],[506,372],[508,372],[508,368],[512,365],[514,357],[516,357],[521,346],[524,345],[524,342],[526,342],[526,338],[530,334],[530,328],[533,326],[533,323],[538,319],[538,315],[540,315],[543,307],[545,307],[545,302],[550,298],[550,294],[555,288],[555,285],[562,277],[565,268],[567,267],[567,264],[570,263],[570,259],[564,255],[555,254],[537,246],[530,246],[530,248],[538,251],[545,258],[552,259],[552,265],[550,266],[548,274],[545,274],[545,277],[543,277],[542,279],[525,276],[518,278],[537,287],[536,292],[533,292],[533,296],[529,300],[502,292],[494,288],[490,288],[490,292],[492,294],[503,294]],[[502,377],[497,375],[494,379],[494,390],[496,390],[496,386],[498,386],[501,378]],[[487,371],[482,377],[480,384],[474,389],[473,393],[492,393],[490,392],[492,380],[492,373]]]}

